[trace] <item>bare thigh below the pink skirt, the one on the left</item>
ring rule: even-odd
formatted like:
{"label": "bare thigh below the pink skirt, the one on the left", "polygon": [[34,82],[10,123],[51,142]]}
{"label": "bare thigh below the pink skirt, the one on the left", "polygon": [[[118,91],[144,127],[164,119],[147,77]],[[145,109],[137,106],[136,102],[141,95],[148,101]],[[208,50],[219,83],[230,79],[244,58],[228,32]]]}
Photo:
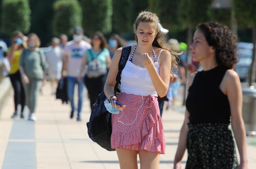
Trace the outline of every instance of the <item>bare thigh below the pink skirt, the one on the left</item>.
{"label": "bare thigh below the pink skirt, the one on the left", "polygon": [[138,169],[137,151],[116,148],[120,169]]}

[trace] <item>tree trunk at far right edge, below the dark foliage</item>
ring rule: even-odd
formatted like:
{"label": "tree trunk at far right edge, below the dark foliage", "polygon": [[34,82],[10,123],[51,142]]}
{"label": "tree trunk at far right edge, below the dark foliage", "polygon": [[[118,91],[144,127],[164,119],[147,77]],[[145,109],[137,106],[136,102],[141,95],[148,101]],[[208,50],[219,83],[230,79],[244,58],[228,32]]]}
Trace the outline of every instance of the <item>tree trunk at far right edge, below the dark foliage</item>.
{"label": "tree trunk at far right edge, below the dark foliage", "polygon": [[252,43],[253,43],[253,51],[252,51],[252,63],[249,69],[249,86],[252,86],[252,83],[255,82],[256,25],[254,25],[252,28]]}

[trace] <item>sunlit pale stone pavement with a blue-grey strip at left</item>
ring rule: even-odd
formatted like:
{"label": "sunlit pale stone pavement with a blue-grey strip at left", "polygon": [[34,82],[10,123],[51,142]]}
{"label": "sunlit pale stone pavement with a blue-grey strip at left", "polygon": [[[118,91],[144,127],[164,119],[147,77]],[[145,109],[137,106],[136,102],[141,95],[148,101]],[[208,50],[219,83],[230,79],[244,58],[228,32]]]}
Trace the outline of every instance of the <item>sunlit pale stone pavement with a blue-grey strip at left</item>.
{"label": "sunlit pale stone pavement with a blue-grey strip at left", "polygon": [[[0,114],[0,166],[2,169],[118,169],[116,152],[108,152],[91,141],[87,134],[89,100],[86,97],[82,122],[69,119],[70,106],[50,94],[46,84],[39,96],[37,121],[11,119],[13,93]],[[77,96],[77,95],[75,95]],[[76,98],[76,97],[75,97]],[[160,155],[160,169],[173,168],[178,137],[184,118],[184,107],[165,110],[163,124],[166,154]],[[256,169],[256,139],[248,138],[249,168]],[[254,145],[253,145],[254,144]],[[186,165],[185,154],[182,165]],[[139,161],[138,161],[139,163]]]}

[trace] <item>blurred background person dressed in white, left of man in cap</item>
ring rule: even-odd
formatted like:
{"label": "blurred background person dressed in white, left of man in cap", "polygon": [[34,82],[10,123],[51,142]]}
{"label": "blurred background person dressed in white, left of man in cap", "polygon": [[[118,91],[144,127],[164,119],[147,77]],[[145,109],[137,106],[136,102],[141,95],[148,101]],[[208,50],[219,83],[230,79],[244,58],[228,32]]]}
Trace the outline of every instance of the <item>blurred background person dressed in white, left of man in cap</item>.
{"label": "blurred background person dressed in white, left of man in cap", "polygon": [[63,50],[59,47],[60,39],[52,38],[52,46],[46,52],[46,61],[48,63],[48,76],[50,78],[52,94],[56,93],[58,80],[62,71]]}

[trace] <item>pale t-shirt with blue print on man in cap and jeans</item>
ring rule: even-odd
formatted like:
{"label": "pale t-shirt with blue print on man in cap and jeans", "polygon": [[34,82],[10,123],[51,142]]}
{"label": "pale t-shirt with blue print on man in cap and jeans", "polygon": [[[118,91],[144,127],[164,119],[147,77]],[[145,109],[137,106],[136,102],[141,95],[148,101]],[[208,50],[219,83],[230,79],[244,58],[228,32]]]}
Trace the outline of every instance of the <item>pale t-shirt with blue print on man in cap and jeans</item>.
{"label": "pale t-shirt with blue print on man in cap and jeans", "polygon": [[80,74],[80,68],[83,61],[83,55],[85,51],[91,49],[92,46],[86,42],[81,41],[79,44],[75,41],[69,41],[65,45],[64,52],[68,55],[68,70],[67,76],[78,77]]}

